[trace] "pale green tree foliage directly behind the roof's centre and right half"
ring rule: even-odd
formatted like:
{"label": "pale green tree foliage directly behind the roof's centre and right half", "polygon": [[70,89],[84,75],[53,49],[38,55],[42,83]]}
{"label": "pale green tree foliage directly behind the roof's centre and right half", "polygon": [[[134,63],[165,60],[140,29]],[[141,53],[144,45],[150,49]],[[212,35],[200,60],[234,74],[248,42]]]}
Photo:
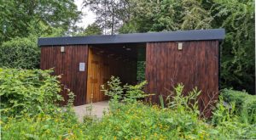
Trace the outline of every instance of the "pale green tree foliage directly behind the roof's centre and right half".
{"label": "pale green tree foliage directly behind the roof's centre and right half", "polygon": [[131,20],[120,32],[207,29],[212,16],[197,0],[131,0]]}

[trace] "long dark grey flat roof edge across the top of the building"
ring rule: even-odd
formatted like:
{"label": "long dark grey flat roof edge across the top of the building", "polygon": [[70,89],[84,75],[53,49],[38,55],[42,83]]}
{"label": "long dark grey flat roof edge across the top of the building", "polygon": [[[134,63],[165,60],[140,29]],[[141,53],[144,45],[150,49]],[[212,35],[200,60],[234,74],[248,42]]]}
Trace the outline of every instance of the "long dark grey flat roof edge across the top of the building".
{"label": "long dark grey flat roof edge across the top of the building", "polygon": [[102,36],[63,36],[38,38],[38,46],[109,44],[131,42],[182,42],[224,39],[224,29],[163,31]]}

